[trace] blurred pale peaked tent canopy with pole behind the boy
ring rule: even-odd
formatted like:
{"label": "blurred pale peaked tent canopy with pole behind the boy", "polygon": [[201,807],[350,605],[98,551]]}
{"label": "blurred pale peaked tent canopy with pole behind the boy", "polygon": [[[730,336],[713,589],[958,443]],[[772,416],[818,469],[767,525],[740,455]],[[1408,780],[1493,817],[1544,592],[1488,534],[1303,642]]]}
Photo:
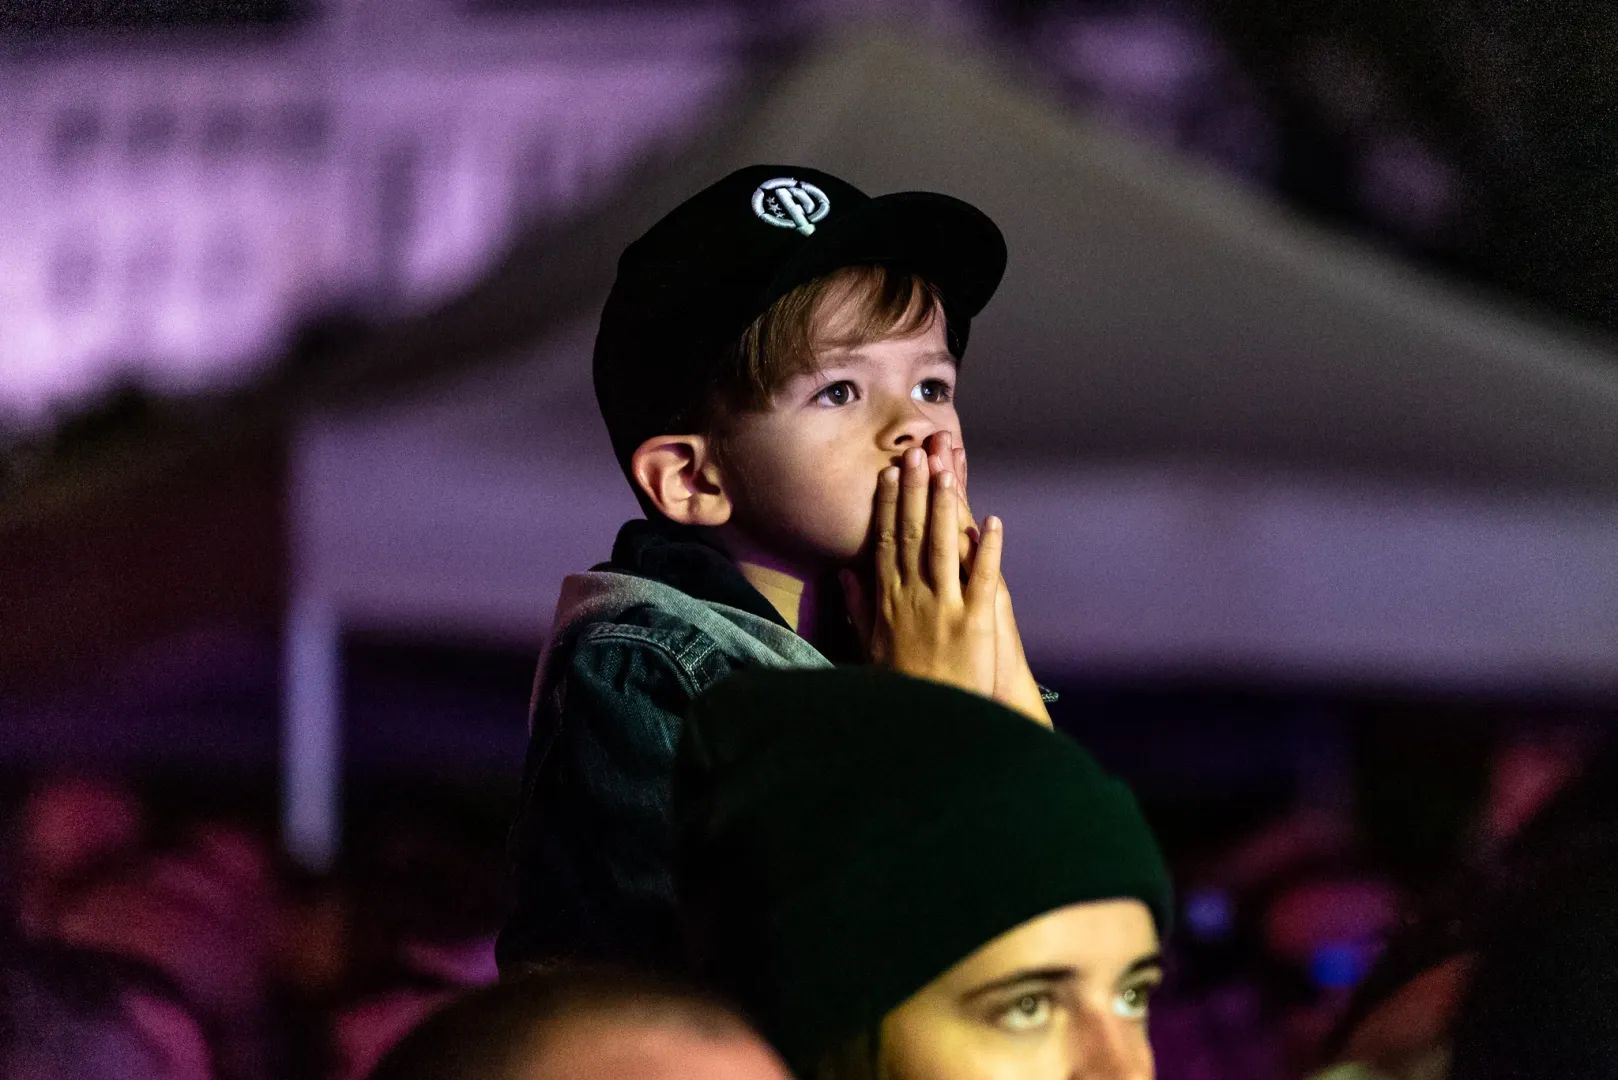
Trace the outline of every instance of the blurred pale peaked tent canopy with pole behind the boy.
{"label": "blurred pale peaked tent canopy with pole behind the boy", "polygon": [[328,852],[341,627],[537,641],[560,578],[636,513],[589,385],[600,300],[623,243],[756,160],[948,191],[1005,230],[963,415],[974,505],[1006,518],[1037,662],[1613,685],[1612,355],[1076,120],[987,62],[864,37],[515,256],[447,316],[532,311],[479,363],[307,419],[294,850]]}

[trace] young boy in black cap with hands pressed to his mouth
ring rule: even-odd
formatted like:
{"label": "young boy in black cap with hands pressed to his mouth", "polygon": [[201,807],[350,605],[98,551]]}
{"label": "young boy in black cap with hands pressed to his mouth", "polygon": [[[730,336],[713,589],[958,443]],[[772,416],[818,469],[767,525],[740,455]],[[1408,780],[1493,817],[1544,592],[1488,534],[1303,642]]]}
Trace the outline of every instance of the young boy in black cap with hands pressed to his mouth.
{"label": "young boy in black cap with hands pressed to his mouth", "polygon": [[568,578],[534,687],[503,970],[683,967],[668,790],[686,706],[741,667],[872,661],[1048,724],[966,510],[955,411],[1005,270],[976,207],[754,165],[629,244],[595,397],[646,520]]}

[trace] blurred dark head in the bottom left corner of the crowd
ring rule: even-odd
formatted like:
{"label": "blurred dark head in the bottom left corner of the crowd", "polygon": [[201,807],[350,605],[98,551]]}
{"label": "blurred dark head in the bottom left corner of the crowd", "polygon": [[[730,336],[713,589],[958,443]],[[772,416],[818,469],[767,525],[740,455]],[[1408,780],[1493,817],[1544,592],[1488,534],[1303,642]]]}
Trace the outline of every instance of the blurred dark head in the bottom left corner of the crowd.
{"label": "blurred dark head in the bottom left corner of the crowd", "polygon": [[81,949],[0,942],[0,1080],[209,1080],[209,1046],[155,972]]}

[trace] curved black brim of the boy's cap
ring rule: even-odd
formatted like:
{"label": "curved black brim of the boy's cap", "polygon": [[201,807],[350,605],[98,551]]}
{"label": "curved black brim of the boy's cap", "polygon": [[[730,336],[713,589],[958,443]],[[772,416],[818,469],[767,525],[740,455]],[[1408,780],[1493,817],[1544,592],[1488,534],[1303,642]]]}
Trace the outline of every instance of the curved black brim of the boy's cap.
{"label": "curved black brim of the boy's cap", "polygon": [[934,191],[898,191],[833,212],[770,282],[765,303],[846,266],[911,270],[943,293],[951,317],[971,319],[1006,269],[1000,228],[971,202]]}

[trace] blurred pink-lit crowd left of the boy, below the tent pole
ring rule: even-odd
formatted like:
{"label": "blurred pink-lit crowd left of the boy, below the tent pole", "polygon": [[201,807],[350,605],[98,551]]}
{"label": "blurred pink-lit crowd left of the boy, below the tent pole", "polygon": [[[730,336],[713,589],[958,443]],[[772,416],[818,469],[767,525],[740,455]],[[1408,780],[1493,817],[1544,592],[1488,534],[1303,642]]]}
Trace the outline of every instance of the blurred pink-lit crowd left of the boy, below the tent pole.
{"label": "blurred pink-lit crowd left of the boy, below the tent pole", "polygon": [[[165,813],[105,776],[44,779],[13,806],[6,1077],[36,1075],[18,1064],[31,1046],[50,1077],[362,1077],[434,1007],[495,980],[498,842],[453,814],[395,814],[316,879],[265,821],[191,806]],[[170,1061],[99,1070],[139,1043],[131,1025]]]}

